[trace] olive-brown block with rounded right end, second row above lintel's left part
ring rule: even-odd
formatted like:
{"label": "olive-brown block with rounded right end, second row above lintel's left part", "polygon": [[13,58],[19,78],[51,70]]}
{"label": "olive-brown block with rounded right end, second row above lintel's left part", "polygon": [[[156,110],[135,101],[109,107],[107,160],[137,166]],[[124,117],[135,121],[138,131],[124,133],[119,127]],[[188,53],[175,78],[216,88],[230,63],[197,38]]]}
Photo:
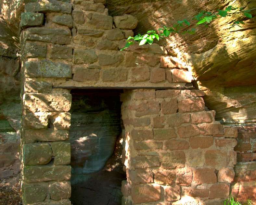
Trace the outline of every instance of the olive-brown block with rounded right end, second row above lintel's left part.
{"label": "olive-brown block with rounded right end, second row above lintel's left part", "polygon": [[94,50],[74,49],[74,63],[85,64],[94,63],[97,61],[97,55]]}

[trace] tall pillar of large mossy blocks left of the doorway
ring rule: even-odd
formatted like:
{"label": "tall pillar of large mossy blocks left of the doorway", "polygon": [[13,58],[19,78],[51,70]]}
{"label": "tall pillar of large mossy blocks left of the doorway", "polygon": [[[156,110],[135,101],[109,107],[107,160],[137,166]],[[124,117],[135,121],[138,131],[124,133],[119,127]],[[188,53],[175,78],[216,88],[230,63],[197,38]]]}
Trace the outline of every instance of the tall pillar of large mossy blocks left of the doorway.
{"label": "tall pillar of large mossy blocks left of the doorway", "polygon": [[[53,82],[72,77],[71,31],[68,26],[47,28],[43,24],[46,12],[59,12],[59,18],[71,18],[72,6],[54,0],[44,4],[26,2],[20,24],[22,200],[24,205],[68,205],[71,94],[70,90],[53,89]],[[53,55],[53,50],[58,55]]]}

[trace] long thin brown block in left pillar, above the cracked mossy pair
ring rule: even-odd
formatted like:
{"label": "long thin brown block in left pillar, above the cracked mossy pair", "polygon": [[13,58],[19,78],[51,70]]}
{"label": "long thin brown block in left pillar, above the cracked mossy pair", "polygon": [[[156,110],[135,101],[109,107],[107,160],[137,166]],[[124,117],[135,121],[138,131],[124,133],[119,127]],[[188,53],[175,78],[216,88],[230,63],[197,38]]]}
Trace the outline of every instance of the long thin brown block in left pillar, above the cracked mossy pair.
{"label": "long thin brown block in left pillar, above the cracked mossy pair", "polygon": [[69,139],[68,130],[54,130],[54,129],[44,129],[44,130],[25,130],[24,142],[34,143],[36,141],[59,141]]}

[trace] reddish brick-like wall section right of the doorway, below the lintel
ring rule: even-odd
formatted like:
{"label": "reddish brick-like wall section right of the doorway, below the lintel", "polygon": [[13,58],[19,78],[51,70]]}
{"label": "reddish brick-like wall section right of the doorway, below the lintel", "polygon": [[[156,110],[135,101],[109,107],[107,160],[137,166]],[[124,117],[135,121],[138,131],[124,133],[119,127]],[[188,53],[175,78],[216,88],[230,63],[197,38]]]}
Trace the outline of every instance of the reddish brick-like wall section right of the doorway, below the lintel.
{"label": "reddish brick-like wall section right of the doorway, below the lintel", "polygon": [[203,96],[200,90],[123,94],[123,205],[216,205],[229,197],[237,130],[216,122]]}

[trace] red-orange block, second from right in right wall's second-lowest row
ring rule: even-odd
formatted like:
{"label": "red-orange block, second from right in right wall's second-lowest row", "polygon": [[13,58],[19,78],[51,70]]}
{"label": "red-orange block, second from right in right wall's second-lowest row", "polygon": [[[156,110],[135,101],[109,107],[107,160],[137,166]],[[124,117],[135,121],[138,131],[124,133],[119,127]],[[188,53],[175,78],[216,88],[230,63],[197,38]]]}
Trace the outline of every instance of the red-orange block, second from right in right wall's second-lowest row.
{"label": "red-orange block, second from right in right wall's second-lowest row", "polygon": [[217,176],[214,168],[198,168],[193,170],[194,182],[200,184],[214,184],[217,182]]}

